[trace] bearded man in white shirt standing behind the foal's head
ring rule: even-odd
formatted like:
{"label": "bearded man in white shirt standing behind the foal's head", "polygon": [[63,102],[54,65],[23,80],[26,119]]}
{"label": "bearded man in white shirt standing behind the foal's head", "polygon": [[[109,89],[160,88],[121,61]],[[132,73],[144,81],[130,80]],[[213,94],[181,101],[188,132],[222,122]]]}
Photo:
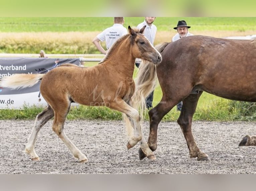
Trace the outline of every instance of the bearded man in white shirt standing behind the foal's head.
{"label": "bearded man in white shirt standing behind the foal's head", "polygon": [[[146,25],[146,28],[144,29],[144,36],[147,37],[147,39],[152,44],[152,46],[154,46],[155,34],[157,30],[156,26],[153,24],[154,21],[155,21],[155,17],[145,17],[145,20],[142,23],[138,24],[137,26],[138,29],[141,29]],[[135,65],[137,68],[139,68],[140,62],[141,62],[140,59],[136,59]],[[154,95],[154,92],[151,92],[146,97],[145,101],[148,109],[152,108],[153,106],[152,105],[153,95]]]}

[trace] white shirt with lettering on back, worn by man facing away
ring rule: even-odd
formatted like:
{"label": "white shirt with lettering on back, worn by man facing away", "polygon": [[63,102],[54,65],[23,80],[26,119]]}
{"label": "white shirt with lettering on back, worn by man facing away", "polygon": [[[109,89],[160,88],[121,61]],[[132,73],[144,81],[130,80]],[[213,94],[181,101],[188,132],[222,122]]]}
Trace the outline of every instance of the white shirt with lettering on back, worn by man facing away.
{"label": "white shirt with lettering on back, worn by man facing away", "polygon": [[106,47],[109,49],[117,39],[127,34],[127,29],[122,24],[114,24],[97,35],[97,38],[103,42],[106,41]]}

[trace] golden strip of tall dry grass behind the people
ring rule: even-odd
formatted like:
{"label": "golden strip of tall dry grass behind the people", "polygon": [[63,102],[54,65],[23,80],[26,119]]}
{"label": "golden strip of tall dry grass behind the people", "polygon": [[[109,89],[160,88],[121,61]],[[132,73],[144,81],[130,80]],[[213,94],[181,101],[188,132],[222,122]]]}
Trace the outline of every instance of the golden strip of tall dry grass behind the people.
{"label": "golden strip of tall dry grass behind the people", "polygon": [[[253,35],[255,31],[196,31],[194,35],[213,37]],[[100,31],[93,32],[2,32],[0,33],[0,53],[37,54],[41,49],[48,54],[97,54],[100,53],[92,39]],[[175,30],[157,31],[155,45],[170,42]],[[105,47],[105,43],[102,43]]]}

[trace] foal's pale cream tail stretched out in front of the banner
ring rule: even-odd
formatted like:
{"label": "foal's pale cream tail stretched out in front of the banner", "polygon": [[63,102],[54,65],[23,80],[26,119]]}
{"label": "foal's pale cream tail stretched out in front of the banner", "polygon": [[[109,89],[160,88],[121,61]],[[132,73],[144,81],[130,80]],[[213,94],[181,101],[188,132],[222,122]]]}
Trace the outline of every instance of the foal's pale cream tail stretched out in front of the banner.
{"label": "foal's pale cream tail stretched out in front of the banner", "polygon": [[0,81],[0,87],[10,89],[22,89],[32,87],[42,80],[44,74],[14,74],[3,77]]}

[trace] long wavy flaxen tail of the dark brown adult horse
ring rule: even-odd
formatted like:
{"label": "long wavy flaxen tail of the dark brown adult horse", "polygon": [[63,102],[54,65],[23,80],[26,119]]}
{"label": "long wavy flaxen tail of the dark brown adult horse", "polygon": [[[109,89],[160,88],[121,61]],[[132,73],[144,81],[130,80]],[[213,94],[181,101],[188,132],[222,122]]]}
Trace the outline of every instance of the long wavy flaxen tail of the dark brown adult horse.
{"label": "long wavy flaxen tail of the dark brown adult horse", "polygon": [[[161,53],[163,49],[169,43],[161,43],[155,46],[156,50]],[[145,98],[156,88],[157,84],[157,75],[156,75],[156,65],[149,61],[142,61],[139,66],[139,72],[135,79],[135,92],[132,95],[130,105],[136,110],[140,110],[141,121],[144,119],[144,111],[146,109]],[[126,129],[128,133],[132,130],[129,120],[124,115],[123,116]]]}

